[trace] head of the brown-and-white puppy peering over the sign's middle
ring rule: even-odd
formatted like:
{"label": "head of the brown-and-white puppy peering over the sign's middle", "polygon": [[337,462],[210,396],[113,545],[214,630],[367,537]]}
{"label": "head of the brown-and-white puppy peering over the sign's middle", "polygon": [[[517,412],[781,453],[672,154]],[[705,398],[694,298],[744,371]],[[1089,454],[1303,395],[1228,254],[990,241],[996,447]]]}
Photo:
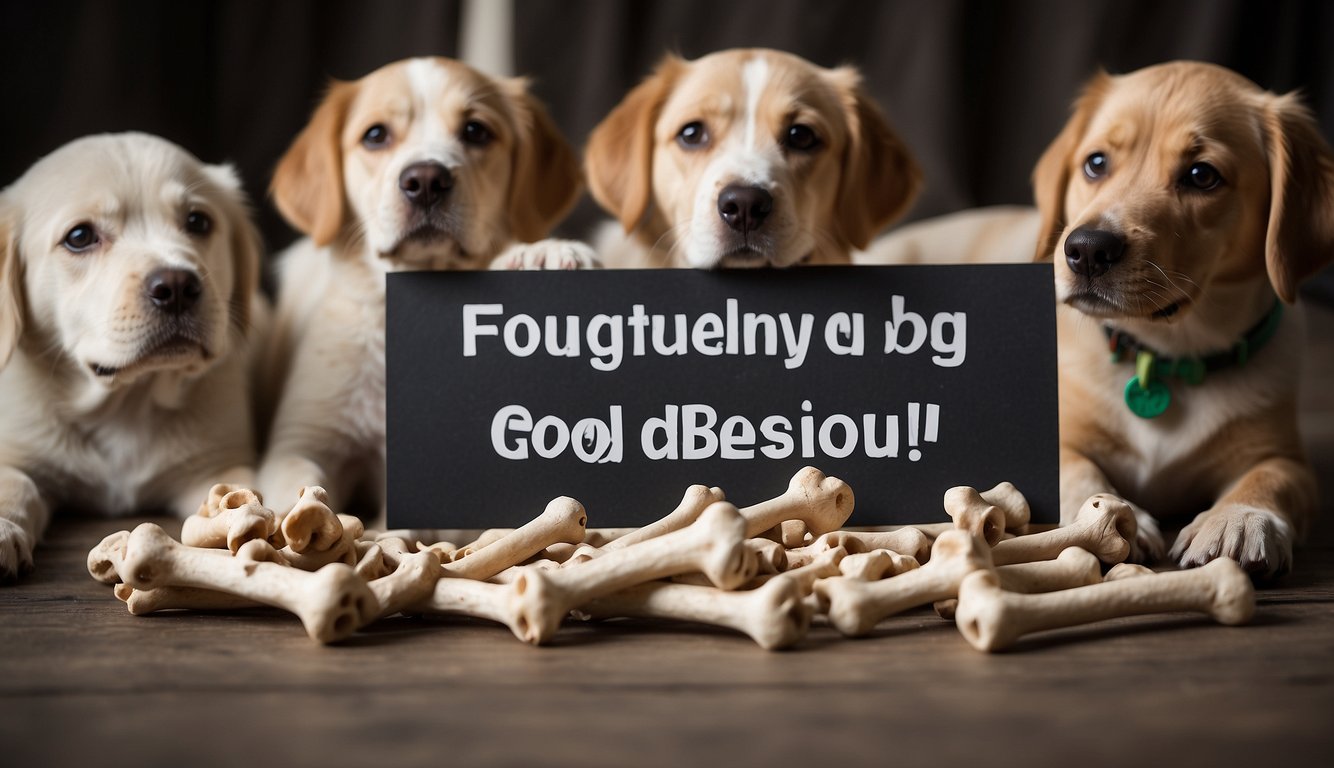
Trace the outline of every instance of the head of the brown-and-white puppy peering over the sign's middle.
{"label": "head of the brown-and-white puppy peering over the sign's middle", "polygon": [[766,49],[667,56],[594,129],[584,167],[624,231],[598,236],[608,267],[847,263],[922,180],[855,69]]}

